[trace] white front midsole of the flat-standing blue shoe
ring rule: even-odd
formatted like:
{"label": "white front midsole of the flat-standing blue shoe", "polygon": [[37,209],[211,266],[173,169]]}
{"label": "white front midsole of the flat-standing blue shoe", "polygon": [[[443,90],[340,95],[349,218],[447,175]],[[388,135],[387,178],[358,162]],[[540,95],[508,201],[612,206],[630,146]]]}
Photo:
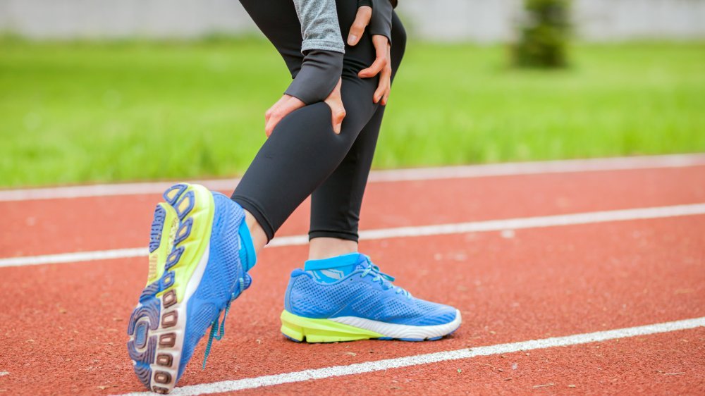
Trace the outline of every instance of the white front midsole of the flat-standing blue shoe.
{"label": "white front midsole of the flat-standing blue shoe", "polygon": [[384,323],[380,321],[372,321],[366,318],[358,318],[357,316],[341,316],[339,318],[329,318],[329,321],[343,323],[357,328],[374,331],[391,338],[414,338],[423,340],[425,338],[441,337],[452,333],[460,327],[462,318],[460,311],[455,310],[455,319],[449,323],[433,326],[410,326],[399,325],[395,323]]}

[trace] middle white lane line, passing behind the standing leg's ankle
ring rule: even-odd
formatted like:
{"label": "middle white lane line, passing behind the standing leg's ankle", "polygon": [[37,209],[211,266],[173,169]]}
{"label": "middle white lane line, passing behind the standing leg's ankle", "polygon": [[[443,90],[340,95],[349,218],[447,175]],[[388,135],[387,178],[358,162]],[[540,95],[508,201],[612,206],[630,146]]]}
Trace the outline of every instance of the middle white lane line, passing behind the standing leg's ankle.
{"label": "middle white lane line, passing behind the standing leg's ankle", "polygon": [[[699,214],[705,214],[705,204],[658,206],[640,209],[623,209],[617,211],[561,214],[556,216],[505,218],[502,220],[473,221],[470,223],[363,230],[360,232],[360,239],[381,240],[399,237],[420,237],[424,235],[482,233],[487,231],[520,230],[524,228],[543,228],[560,225],[605,223],[608,221],[629,221],[649,218],[694,216]],[[296,246],[306,245],[307,242],[307,235],[293,235],[288,237],[277,237],[267,246]],[[13,266],[37,266],[40,264],[76,263],[79,261],[125,259],[140,256],[147,256],[147,249],[143,247],[135,247],[130,249],[97,250],[93,252],[47,254],[43,256],[8,257],[5,259],[0,259],[0,268]]]}

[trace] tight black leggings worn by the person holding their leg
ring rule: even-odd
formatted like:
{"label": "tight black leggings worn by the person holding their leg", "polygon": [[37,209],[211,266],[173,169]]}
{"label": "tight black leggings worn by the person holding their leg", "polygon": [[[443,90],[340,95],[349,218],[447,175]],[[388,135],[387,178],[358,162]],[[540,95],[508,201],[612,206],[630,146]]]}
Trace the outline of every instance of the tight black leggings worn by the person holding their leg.
{"label": "tight black leggings worn by the person holding their leg", "polygon": [[[240,0],[269,41],[284,58],[292,78],[303,60],[301,27],[291,0]],[[343,39],[355,20],[357,1],[337,0]],[[393,73],[404,54],[406,33],[393,18]],[[259,149],[232,199],[249,211],[268,240],[309,196],[309,238],[335,237],[357,241],[362,195],[372,166],[384,106],[372,102],[378,78],[361,79],[375,52],[367,32],[355,47],[345,46],[341,94],[346,116],[340,135],[333,132],[331,109],[318,102],[283,118]]]}

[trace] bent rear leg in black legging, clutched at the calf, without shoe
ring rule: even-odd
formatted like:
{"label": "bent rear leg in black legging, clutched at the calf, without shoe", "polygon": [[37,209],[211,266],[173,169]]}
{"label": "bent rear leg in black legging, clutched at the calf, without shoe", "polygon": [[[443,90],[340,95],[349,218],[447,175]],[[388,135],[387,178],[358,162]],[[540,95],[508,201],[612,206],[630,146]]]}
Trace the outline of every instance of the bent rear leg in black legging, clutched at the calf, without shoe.
{"label": "bent rear leg in black legging, clutched at the calf, without shoe", "polygon": [[[256,0],[242,0],[242,3],[280,51],[294,75],[298,71],[294,51],[300,48],[300,27],[298,21],[293,21],[296,17],[290,1],[263,4]],[[281,10],[278,8],[280,4]],[[284,13],[286,6],[291,10]],[[349,27],[356,12],[355,1],[338,1],[341,26]],[[254,223],[262,227],[268,240],[274,237],[294,209],[333,173],[360,130],[379,108],[370,99],[376,88],[376,79],[357,77],[357,72],[372,61],[374,48],[369,37],[363,37],[360,44],[346,49],[341,91],[347,116],[340,135],[333,133],[331,112],[325,103],[294,111],[277,125],[235,189],[233,200],[250,212],[252,219],[256,220]]]}

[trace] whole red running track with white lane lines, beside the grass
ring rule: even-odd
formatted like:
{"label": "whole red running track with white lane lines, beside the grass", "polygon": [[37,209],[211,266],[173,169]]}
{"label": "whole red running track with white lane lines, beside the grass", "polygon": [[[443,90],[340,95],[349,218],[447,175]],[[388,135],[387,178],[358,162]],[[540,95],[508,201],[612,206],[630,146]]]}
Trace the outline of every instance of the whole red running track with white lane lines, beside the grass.
{"label": "whole red running track with white lane lines, beside the grass", "polygon": [[[415,295],[458,307],[460,330],[426,343],[283,339],[288,273],[306,254],[302,205],[233,304],[207,371],[200,345],[177,394],[705,394],[705,156],[373,180],[361,249]],[[0,393],[142,392],[125,326],[160,188],[0,192]]]}

